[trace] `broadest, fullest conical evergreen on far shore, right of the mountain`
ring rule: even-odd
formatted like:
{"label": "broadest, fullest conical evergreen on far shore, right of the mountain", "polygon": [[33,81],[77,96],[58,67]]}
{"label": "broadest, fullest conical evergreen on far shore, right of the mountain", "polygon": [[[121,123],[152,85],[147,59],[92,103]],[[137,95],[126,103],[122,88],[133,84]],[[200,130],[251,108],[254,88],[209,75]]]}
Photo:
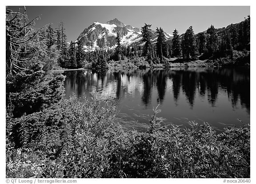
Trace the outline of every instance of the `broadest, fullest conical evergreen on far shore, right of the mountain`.
{"label": "broadest, fullest conical evergreen on far shore, right of the mountain", "polygon": [[182,55],[185,59],[196,59],[196,39],[192,26],[190,26],[182,39]]}

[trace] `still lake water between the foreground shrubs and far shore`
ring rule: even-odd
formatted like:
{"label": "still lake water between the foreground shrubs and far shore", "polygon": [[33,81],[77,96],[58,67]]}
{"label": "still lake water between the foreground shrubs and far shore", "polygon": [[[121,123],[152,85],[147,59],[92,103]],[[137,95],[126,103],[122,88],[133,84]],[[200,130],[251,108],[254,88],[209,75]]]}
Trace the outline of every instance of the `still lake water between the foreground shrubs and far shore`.
{"label": "still lake water between the foreground shrubs and far shore", "polygon": [[135,129],[149,124],[153,107],[165,124],[188,127],[204,121],[220,132],[229,125],[250,123],[250,68],[170,68],[65,71],[66,98],[75,93],[119,100],[118,117]]}

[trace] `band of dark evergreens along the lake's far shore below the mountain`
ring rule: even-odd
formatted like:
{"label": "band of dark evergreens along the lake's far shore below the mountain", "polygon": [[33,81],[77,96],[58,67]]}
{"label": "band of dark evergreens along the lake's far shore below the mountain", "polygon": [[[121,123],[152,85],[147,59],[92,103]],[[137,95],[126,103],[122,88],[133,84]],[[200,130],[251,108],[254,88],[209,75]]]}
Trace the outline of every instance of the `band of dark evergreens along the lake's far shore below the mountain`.
{"label": "band of dark evergreens along the lake's far shore below the mountain", "polygon": [[[46,32],[49,47],[56,45],[61,53],[59,68],[108,68],[108,67],[171,67],[173,63],[198,61],[196,66],[250,66],[250,16],[244,21],[224,29],[211,25],[206,31],[194,34],[192,26],[179,35],[175,29],[172,40],[166,40],[164,30],[156,28],[157,42],[152,44],[151,25],[141,27],[144,46],[122,46],[117,31],[114,49],[97,48],[85,52],[80,41],[67,44],[64,24]],[[106,40],[105,40],[106,41]],[[93,51],[92,51],[93,50]]]}

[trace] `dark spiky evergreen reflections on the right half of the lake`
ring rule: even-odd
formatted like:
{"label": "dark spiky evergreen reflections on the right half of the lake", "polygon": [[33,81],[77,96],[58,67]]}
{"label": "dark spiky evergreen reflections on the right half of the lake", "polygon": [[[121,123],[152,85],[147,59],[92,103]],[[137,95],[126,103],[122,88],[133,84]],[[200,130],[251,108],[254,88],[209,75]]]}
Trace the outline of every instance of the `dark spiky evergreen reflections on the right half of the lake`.
{"label": "dark spiky evergreen reflections on the right half of the lake", "polygon": [[[153,76],[151,76],[153,75]],[[240,100],[241,106],[250,110],[250,69],[249,68],[201,68],[201,69],[169,69],[150,70],[143,73],[144,93],[143,102],[148,104],[151,86],[156,82],[160,102],[164,99],[167,77],[172,79],[173,97],[177,102],[180,87],[188,102],[193,106],[196,88],[200,96],[208,95],[208,102],[214,106],[219,90],[228,93],[233,107]],[[149,77],[150,76],[150,77]],[[248,112],[249,113],[249,112]]]}

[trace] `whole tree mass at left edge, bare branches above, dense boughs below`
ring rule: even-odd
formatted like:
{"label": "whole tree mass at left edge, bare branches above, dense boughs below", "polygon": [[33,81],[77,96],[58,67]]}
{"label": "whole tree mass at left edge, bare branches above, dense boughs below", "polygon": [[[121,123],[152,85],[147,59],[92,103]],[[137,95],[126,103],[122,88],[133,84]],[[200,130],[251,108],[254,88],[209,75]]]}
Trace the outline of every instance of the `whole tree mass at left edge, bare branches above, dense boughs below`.
{"label": "whole tree mass at left edge, bare branches above, dense boughs below", "polygon": [[48,49],[43,28],[35,31],[35,19],[24,19],[6,10],[6,108],[12,105],[13,117],[39,112],[64,96],[64,76],[54,77],[51,71],[58,52]]}

